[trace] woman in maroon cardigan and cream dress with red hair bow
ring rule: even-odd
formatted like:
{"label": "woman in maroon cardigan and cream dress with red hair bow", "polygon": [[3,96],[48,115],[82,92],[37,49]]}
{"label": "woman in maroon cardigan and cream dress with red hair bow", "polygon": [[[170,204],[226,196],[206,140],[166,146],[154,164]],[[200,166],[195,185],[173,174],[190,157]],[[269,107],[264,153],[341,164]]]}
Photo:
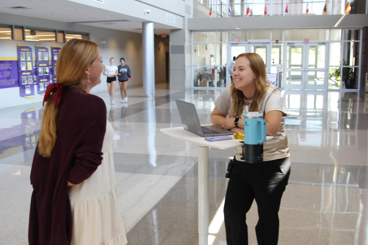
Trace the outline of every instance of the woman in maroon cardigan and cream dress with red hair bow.
{"label": "woman in maroon cardigan and cream dress with red hair bow", "polygon": [[114,178],[114,133],[105,103],[89,94],[103,68],[96,43],[72,39],[61,48],[32,163],[31,245],[127,243]]}

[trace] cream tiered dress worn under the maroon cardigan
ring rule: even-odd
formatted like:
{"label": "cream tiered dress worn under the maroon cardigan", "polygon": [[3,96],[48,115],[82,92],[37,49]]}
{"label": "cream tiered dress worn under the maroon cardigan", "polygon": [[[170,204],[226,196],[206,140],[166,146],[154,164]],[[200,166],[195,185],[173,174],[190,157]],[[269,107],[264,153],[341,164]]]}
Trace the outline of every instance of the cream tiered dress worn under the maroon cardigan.
{"label": "cream tiered dress worn under the maroon cardigan", "polygon": [[102,164],[91,177],[69,189],[72,245],[127,244],[116,191],[113,137],[113,127],[107,121]]}

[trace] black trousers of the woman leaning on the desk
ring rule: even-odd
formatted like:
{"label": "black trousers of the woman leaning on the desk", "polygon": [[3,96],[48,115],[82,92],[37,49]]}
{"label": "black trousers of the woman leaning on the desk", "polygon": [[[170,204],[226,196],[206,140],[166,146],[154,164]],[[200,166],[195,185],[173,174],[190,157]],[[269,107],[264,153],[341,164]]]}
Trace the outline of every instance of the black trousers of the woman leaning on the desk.
{"label": "black trousers of the woman leaning on the desk", "polygon": [[258,245],[277,245],[279,209],[290,175],[290,158],[263,163],[233,160],[224,217],[227,245],[248,245],[247,212],[253,199],[258,207],[255,227]]}

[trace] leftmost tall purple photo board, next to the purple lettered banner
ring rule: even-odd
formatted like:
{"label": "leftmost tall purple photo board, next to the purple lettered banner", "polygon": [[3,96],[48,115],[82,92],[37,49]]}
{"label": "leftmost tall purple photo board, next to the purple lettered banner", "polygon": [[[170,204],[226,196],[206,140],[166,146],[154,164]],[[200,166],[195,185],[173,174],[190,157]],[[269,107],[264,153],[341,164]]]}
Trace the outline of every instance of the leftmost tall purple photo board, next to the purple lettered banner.
{"label": "leftmost tall purple photo board, next to the purple lettered banner", "polygon": [[32,48],[18,44],[18,84],[20,96],[24,98],[35,97],[32,69]]}

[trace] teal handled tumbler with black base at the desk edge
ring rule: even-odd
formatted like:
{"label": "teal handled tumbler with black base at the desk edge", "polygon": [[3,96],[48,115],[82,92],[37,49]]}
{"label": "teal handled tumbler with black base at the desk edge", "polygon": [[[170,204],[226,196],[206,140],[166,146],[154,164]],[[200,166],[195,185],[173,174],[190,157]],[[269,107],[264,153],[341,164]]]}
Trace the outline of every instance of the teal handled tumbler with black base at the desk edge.
{"label": "teal handled tumbler with black base at the desk edge", "polygon": [[243,160],[248,163],[263,162],[263,142],[266,141],[266,121],[262,111],[244,112]]}

